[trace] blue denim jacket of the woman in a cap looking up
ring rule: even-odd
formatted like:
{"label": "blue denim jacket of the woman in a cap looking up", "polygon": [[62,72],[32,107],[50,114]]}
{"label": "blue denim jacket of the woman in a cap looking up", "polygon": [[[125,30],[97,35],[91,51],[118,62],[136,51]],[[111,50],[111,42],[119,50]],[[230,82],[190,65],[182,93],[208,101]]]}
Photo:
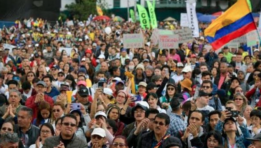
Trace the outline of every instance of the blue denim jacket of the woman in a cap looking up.
{"label": "blue denim jacket of the woman in a cap looking up", "polygon": [[[224,122],[218,121],[218,124],[216,125],[215,130],[222,132],[223,124],[224,124]],[[237,147],[238,148],[247,148],[251,144],[251,141],[247,140],[246,138],[251,138],[252,136],[249,133],[249,130],[247,129],[247,126],[245,124],[243,124],[242,126],[239,126],[239,128],[242,131],[242,135],[236,136]],[[223,145],[225,143],[225,140],[226,140],[226,138],[222,137]],[[229,147],[229,146],[227,145],[227,147]]]}

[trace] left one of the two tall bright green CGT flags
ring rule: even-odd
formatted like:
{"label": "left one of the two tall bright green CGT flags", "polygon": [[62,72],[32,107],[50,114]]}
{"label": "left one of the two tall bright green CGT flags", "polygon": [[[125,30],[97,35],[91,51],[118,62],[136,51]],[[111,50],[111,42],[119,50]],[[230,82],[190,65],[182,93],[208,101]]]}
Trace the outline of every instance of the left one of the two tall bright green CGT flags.
{"label": "left one of the two tall bright green CGT flags", "polygon": [[148,12],[146,11],[146,9],[137,4],[137,9],[138,9],[138,12],[139,12],[139,21],[140,21],[140,25],[143,29],[145,28],[148,28],[150,29],[151,28],[151,25],[150,25],[150,20],[149,20],[149,17],[148,17]]}

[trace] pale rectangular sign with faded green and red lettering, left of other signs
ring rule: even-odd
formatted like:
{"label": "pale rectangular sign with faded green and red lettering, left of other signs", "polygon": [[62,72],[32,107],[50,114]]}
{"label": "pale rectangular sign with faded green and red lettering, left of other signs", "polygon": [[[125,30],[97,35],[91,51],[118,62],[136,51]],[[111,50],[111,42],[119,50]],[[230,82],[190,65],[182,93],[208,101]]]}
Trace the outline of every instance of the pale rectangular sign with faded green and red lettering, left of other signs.
{"label": "pale rectangular sign with faded green and red lettering, left of other signs", "polygon": [[123,34],[124,48],[142,48],[143,35],[141,33]]}

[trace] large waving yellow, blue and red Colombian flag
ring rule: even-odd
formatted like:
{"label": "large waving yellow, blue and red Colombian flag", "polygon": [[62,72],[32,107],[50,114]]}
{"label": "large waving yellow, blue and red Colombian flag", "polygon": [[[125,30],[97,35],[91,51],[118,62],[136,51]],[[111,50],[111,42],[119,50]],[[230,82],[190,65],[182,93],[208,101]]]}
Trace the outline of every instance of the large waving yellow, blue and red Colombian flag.
{"label": "large waving yellow, blue and red Colombian flag", "polygon": [[204,34],[214,50],[229,41],[256,30],[247,0],[238,0],[220,17],[215,19]]}

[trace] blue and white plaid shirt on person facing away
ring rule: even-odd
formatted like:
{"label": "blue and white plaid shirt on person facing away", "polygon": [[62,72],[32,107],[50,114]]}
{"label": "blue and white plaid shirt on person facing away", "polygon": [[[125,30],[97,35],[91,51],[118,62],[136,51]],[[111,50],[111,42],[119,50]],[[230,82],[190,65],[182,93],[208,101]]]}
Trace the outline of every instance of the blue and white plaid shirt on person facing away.
{"label": "blue and white plaid shirt on person facing away", "polygon": [[168,134],[175,137],[181,137],[181,133],[184,131],[184,121],[181,115],[177,115],[176,113],[169,113],[170,124],[168,128]]}

